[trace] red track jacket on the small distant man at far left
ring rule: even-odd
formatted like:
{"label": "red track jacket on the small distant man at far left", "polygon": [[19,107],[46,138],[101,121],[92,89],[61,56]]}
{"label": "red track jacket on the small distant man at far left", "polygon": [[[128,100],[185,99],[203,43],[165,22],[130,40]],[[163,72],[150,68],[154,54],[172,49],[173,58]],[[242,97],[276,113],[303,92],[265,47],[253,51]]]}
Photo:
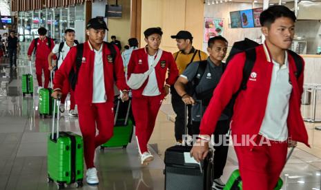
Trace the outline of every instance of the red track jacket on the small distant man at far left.
{"label": "red track jacket on the small distant man at far left", "polygon": [[[50,54],[51,50],[53,47],[55,47],[55,42],[51,40],[51,48],[49,50],[48,47],[48,37],[41,41],[41,39],[38,39],[38,45],[37,45],[37,50],[36,50],[36,59],[43,59],[48,61],[48,55]],[[28,56],[32,55],[33,50],[35,49],[35,39],[32,40],[30,43],[29,49],[28,49]]]}

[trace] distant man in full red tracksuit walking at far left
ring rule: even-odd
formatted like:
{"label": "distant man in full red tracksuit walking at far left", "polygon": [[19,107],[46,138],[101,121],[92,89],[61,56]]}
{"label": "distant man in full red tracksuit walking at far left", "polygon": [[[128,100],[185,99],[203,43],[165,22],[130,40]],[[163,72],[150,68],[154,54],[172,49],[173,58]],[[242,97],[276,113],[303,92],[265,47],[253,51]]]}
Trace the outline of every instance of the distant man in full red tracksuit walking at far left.
{"label": "distant man in full red tracksuit walking at far left", "polygon": [[[55,42],[46,36],[47,30],[46,28],[38,29],[39,39],[37,41],[37,50],[36,50],[36,75],[38,81],[38,93],[39,89],[42,87],[47,88],[49,84],[50,78],[50,70],[48,69],[48,55],[50,54],[53,47],[55,47]],[[50,47],[48,40],[50,40]],[[35,49],[35,39],[32,40],[28,49],[28,59],[31,61],[31,55],[33,50]],[[45,83],[42,85],[42,72],[45,76]]]}

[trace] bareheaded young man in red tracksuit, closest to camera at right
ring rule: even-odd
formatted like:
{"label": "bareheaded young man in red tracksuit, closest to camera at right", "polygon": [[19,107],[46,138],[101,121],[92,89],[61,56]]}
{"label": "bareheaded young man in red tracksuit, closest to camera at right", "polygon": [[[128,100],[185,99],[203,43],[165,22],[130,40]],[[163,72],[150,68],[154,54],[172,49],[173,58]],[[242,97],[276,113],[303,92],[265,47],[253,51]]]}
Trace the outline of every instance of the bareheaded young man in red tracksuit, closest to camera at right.
{"label": "bareheaded young man in red tracksuit, closest to camera at right", "polygon": [[[246,89],[235,100],[231,120],[244,190],[274,189],[286,162],[287,147],[295,146],[297,141],[309,146],[300,112],[303,70],[297,78],[293,57],[286,52],[293,40],[295,19],[285,6],[271,6],[260,15],[266,41],[255,48],[256,61]],[[234,56],[213,92],[200,126],[200,138],[191,150],[197,161],[206,157],[209,135],[240,88],[245,59],[245,53]]]}

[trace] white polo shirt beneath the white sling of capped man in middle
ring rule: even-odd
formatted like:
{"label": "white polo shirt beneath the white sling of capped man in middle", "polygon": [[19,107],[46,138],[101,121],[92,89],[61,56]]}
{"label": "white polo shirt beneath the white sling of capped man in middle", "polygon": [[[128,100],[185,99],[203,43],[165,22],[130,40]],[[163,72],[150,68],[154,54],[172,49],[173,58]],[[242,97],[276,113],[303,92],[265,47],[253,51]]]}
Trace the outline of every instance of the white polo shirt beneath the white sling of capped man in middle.
{"label": "white polo shirt beneath the white sling of capped man in middle", "polygon": [[[148,55],[148,66],[149,67],[151,65],[153,65],[156,55],[153,55],[153,56]],[[156,73],[155,73],[155,68],[154,68],[153,72],[151,72],[148,77],[148,82],[147,82],[146,87],[144,88],[142,95],[144,95],[144,96],[158,96],[159,94],[161,94],[161,93],[159,92],[159,89],[158,89],[157,78],[156,78]]]}

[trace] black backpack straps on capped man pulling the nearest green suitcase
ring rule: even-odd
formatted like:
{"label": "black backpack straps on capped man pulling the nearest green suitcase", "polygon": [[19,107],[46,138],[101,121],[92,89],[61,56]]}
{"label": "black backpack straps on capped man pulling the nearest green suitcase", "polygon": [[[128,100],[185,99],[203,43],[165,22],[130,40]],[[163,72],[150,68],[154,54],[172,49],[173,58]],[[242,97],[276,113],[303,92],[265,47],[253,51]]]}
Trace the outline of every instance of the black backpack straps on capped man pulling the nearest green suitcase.
{"label": "black backpack straps on capped man pulling the nearest green suitcase", "polygon": [[[108,43],[108,42],[104,42],[107,44],[108,49],[110,50],[110,56],[113,59],[113,63],[115,63],[115,58],[116,58],[116,50],[113,44]],[[68,80],[70,83],[70,87],[72,90],[75,91],[76,88],[76,84],[77,84],[77,79],[78,79],[78,72],[81,66],[81,62],[82,62],[82,56],[84,54],[84,43],[80,43],[77,45],[77,54],[76,54],[76,70],[72,69],[70,70],[69,76],[68,76]]]}

